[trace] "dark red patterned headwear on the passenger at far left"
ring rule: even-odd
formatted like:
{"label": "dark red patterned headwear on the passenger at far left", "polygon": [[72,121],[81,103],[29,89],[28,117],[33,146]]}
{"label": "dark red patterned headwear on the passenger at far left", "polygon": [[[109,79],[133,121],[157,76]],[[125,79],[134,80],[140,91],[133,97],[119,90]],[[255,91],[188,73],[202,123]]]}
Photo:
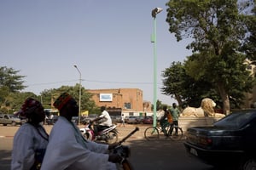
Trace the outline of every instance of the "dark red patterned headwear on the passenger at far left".
{"label": "dark red patterned headwear on the passenger at far left", "polygon": [[16,115],[29,117],[36,108],[43,107],[37,99],[27,98]]}

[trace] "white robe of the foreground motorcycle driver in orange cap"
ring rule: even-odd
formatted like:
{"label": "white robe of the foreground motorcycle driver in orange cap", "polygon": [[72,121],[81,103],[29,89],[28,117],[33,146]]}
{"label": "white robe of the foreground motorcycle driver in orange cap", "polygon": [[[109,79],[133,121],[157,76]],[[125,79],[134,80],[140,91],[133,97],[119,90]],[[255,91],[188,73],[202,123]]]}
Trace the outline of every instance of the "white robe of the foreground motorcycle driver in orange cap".
{"label": "white robe of the foreground motorcycle driver in orange cap", "polygon": [[79,128],[59,116],[49,135],[41,170],[114,170],[108,161],[108,144],[84,141]]}

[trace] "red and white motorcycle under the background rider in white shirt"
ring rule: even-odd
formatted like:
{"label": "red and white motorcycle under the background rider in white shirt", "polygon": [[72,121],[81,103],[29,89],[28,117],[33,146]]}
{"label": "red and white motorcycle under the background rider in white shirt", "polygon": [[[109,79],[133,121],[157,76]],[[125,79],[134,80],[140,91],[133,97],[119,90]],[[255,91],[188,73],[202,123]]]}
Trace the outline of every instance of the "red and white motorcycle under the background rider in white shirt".
{"label": "red and white motorcycle under the background rider in white shirt", "polygon": [[80,128],[80,132],[83,134],[84,139],[95,142],[105,141],[107,144],[114,144],[118,141],[119,135],[116,125],[106,127],[98,133],[95,133],[94,126],[96,126],[96,122],[87,122],[84,128]]}

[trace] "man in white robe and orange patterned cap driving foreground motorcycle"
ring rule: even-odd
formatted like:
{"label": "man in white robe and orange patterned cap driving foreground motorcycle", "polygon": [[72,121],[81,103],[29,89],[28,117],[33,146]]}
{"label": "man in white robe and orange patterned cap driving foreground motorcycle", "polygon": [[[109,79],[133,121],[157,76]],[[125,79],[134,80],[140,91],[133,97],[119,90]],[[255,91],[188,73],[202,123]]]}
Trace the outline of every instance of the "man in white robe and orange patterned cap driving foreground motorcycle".
{"label": "man in white robe and orange patterned cap driving foreground motorcycle", "polygon": [[97,144],[84,139],[71,120],[78,116],[79,106],[67,93],[55,100],[60,111],[58,121],[49,134],[49,144],[41,170],[115,170],[122,158],[109,154],[115,144]]}

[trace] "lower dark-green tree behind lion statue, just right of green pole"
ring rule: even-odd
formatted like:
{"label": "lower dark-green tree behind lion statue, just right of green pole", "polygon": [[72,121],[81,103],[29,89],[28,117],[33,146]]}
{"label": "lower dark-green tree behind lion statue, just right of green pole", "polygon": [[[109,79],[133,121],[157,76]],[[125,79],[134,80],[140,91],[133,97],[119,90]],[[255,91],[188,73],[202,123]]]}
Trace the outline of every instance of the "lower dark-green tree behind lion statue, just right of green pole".
{"label": "lower dark-green tree behind lion statue, just right of green pole", "polygon": [[178,105],[198,107],[201,99],[211,96],[219,104],[219,97],[212,84],[204,78],[195,80],[189,77],[185,67],[181,62],[172,62],[169,68],[162,72],[164,87],[161,88],[163,94],[171,95],[177,99]]}

